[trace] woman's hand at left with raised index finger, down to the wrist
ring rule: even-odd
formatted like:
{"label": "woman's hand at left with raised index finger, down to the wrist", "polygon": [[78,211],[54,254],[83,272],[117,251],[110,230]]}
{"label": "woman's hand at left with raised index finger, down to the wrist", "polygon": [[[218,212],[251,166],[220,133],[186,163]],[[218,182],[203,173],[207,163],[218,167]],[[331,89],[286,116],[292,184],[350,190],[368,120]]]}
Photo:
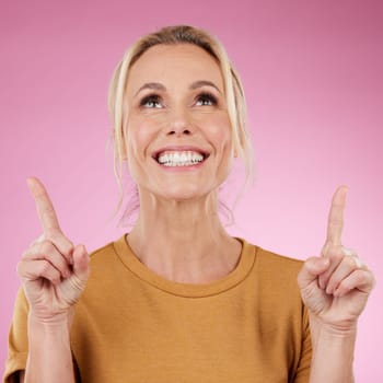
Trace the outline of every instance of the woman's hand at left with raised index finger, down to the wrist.
{"label": "woman's hand at left with raised index finger, down to the wrist", "polygon": [[30,304],[30,314],[42,323],[66,320],[89,278],[89,255],[62,233],[54,206],[37,178],[27,179],[35,199],[43,235],[24,252],[18,274]]}

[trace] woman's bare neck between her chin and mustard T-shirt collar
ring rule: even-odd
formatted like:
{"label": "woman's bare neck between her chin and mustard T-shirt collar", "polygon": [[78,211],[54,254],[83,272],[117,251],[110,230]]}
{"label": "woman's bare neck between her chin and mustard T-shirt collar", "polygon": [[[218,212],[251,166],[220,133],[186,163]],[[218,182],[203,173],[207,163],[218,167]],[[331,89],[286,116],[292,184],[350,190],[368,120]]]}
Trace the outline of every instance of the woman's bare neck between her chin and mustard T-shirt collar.
{"label": "woman's bare neck between her chin and mustard T-shirt collar", "polygon": [[240,242],[220,222],[213,195],[187,201],[140,198],[140,214],[128,242],[151,270],[179,282],[221,278],[241,254]]}

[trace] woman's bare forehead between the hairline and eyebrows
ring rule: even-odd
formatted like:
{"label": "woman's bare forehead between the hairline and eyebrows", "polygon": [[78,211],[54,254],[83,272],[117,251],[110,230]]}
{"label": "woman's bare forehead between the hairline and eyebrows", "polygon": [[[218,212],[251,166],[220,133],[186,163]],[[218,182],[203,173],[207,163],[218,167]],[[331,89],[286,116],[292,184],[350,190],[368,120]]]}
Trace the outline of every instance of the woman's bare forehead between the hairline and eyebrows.
{"label": "woman's bare forehead between the hairline and eyebrows", "polygon": [[193,44],[155,45],[130,68],[127,90],[135,92],[147,82],[172,88],[199,80],[211,81],[223,92],[221,69],[206,50]]}

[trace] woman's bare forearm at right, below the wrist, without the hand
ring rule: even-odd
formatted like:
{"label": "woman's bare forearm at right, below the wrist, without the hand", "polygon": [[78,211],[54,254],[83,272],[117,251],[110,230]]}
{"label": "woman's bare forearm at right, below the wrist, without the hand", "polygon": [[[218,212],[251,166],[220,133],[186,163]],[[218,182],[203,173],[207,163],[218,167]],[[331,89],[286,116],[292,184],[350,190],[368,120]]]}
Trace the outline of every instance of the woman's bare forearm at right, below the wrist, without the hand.
{"label": "woman's bare forearm at right, below the wrist, without the hand", "polygon": [[313,327],[310,383],[353,383],[356,328],[335,330]]}

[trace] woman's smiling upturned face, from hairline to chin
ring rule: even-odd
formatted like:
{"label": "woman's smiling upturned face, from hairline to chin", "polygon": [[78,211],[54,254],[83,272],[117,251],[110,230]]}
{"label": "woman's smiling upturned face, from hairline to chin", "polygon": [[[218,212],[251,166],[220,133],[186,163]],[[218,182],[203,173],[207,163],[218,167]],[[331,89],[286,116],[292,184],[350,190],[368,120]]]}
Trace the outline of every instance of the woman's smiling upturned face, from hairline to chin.
{"label": "woman's smiling upturned face, from hairline to chin", "polygon": [[223,79],[204,49],[148,49],[129,71],[127,108],[127,160],[140,194],[195,199],[227,178],[233,151]]}

